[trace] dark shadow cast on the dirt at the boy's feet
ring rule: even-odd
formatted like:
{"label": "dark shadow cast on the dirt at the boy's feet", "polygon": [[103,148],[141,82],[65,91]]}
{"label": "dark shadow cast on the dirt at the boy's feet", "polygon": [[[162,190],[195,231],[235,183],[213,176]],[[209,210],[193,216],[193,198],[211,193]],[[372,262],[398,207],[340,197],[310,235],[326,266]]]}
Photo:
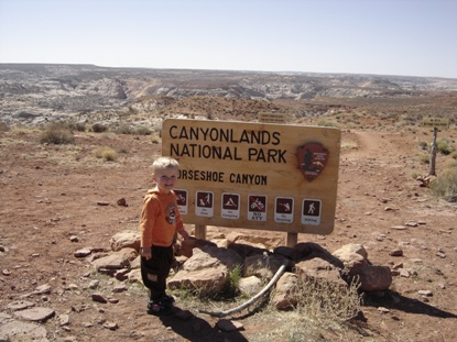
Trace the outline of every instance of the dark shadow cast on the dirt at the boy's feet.
{"label": "dark shadow cast on the dirt at the boy's feet", "polygon": [[196,316],[191,315],[188,318],[179,318],[179,308],[175,308],[174,315],[161,317],[164,327],[171,328],[176,334],[192,342],[248,342],[240,331],[225,332],[217,327]]}

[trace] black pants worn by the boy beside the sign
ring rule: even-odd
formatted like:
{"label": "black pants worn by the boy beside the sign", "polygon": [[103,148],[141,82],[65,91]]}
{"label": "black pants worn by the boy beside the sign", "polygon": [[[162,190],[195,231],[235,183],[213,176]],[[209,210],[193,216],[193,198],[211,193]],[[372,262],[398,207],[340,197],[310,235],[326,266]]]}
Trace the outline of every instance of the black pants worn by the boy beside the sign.
{"label": "black pants worn by the boy beside the sign", "polygon": [[151,300],[160,300],[165,295],[166,278],[173,262],[173,246],[151,247],[152,257],[141,257],[141,277],[143,284],[150,290]]}

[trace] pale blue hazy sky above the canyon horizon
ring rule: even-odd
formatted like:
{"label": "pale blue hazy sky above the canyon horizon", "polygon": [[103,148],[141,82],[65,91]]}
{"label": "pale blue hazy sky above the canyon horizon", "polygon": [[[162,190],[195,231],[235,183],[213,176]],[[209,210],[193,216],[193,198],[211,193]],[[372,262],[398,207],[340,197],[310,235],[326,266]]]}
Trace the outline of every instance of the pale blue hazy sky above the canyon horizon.
{"label": "pale blue hazy sky above the canyon horizon", "polygon": [[0,63],[457,78],[457,1],[0,0]]}

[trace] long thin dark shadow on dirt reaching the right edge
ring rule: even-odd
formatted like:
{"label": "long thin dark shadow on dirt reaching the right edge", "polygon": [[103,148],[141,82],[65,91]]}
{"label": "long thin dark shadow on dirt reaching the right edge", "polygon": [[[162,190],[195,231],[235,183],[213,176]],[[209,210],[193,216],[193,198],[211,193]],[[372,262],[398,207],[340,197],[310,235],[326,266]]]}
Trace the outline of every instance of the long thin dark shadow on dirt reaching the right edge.
{"label": "long thin dark shadow on dirt reaching the right edge", "polygon": [[437,309],[415,298],[407,298],[398,293],[385,291],[381,296],[366,294],[363,298],[366,306],[382,306],[387,309],[394,309],[407,313],[427,315],[437,318],[457,318],[457,315]]}

